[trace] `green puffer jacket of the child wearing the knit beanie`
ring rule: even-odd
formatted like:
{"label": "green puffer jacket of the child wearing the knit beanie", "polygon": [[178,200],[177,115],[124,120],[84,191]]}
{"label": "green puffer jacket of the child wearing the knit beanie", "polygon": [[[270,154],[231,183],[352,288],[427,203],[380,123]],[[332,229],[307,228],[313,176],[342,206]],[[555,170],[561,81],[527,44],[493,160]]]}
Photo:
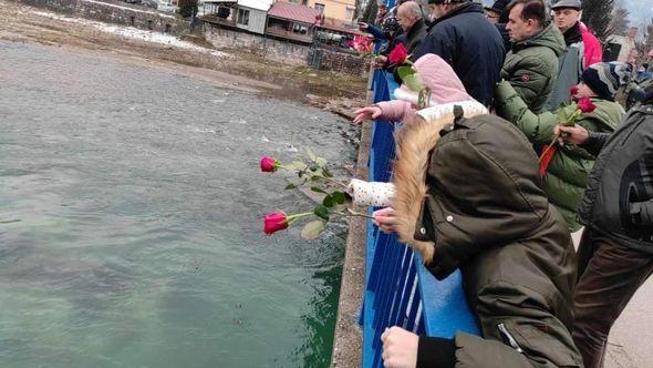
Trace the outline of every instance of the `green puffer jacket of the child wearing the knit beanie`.
{"label": "green puffer jacket of the child wearing the knit beanie", "polygon": [[[553,127],[558,125],[558,111],[535,114],[507,82],[496,89],[497,114],[515,124],[538,146],[551,144]],[[612,133],[625,114],[620,104],[591,99],[597,109],[591,113],[581,113],[577,124],[592,132]],[[560,109],[571,109],[570,106]],[[558,208],[569,229],[576,232],[581,225],[578,222],[578,207],[588,186],[588,180],[597,157],[573,144],[558,146],[547,173],[543,177],[543,190],[551,204]]]}

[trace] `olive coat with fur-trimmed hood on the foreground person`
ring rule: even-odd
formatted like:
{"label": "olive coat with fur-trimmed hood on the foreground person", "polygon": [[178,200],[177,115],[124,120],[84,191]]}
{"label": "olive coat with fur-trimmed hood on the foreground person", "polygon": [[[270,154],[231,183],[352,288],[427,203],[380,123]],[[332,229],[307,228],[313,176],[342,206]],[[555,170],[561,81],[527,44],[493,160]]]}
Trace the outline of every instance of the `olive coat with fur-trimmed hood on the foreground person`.
{"label": "olive coat with fur-trimmed hood on the foreground person", "polygon": [[481,337],[456,335],[456,367],[582,367],[569,333],[573,246],[531,144],[494,115],[438,140],[442,127],[401,129],[393,207],[400,238],[427,254],[435,277],[463,272]]}

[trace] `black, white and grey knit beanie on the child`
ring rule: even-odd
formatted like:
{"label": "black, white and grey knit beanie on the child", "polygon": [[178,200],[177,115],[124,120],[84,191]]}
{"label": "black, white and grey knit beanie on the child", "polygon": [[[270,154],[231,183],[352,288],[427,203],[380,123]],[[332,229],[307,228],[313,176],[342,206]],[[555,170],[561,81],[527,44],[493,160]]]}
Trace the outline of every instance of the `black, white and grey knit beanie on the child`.
{"label": "black, white and grey knit beanie on the child", "polygon": [[580,80],[599,98],[612,101],[616,90],[628,84],[630,73],[624,63],[601,62],[585,69],[580,75]]}

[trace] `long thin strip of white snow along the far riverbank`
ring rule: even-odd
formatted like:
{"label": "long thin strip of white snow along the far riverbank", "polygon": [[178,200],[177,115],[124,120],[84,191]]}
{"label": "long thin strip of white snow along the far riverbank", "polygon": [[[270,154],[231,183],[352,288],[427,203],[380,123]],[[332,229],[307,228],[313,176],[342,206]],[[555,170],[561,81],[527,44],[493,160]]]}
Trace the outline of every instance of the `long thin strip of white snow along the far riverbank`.
{"label": "long thin strip of white snow along the far riverbank", "polygon": [[129,39],[134,39],[134,40],[138,40],[138,41],[165,44],[165,45],[169,45],[173,48],[204,52],[204,53],[208,53],[210,55],[218,57],[218,58],[228,55],[225,52],[198,47],[198,45],[193,44],[190,42],[182,41],[178,38],[170,35],[170,34],[153,32],[153,31],[147,31],[147,30],[141,30],[141,29],[137,29],[134,27],[122,27],[122,25],[107,24],[107,23],[96,22],[96,21],[81,19],[81,18],[63,17],[63,16],[46,12],[46,11],[33,11],[32,13],[40,16],[40,17],[61,20],[64,22],[91,25],[102,32],[113,33],[113,34],[117,34],[121,37],[125,37],[125,38],[129,38]]}

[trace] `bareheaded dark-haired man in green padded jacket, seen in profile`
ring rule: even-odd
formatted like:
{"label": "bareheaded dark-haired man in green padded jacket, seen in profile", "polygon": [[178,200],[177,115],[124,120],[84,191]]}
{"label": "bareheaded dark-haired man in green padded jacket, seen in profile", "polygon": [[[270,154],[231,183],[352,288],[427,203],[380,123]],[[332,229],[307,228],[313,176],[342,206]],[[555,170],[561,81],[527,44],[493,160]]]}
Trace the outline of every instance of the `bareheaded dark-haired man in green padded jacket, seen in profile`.
{"label": "bareheaded dark-haired man in green padded jacket, seen in profile", "polygon": [[548,21],[542,0],[515,0],[507,10],[506,30],[512,48],[506,55],[501,78],[537,114],[545,108],[556,84],[564,38]]}

